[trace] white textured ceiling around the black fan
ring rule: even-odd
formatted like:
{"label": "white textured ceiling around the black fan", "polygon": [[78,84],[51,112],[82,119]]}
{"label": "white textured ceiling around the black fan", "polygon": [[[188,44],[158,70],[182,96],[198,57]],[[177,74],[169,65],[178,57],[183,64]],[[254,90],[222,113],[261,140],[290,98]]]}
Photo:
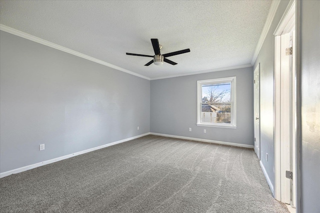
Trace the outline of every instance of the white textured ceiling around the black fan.
{"label": "white textured ceiling around the black fan", "polygon": [[[1,0],[0,23],[151,79],[250,64],[271,0]],[[154,55],[175,66],[143,66]]]}

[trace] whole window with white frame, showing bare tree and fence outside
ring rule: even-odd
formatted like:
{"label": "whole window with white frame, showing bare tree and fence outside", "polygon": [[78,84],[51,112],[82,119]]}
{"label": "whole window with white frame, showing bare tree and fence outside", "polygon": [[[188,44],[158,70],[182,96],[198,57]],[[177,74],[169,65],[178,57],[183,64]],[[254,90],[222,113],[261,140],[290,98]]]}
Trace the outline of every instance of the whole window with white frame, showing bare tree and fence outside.
{"label": "whole window with white frame, showing bare tree and fence outside", "polygon": [[197,126],[236,128],[235,77],[197,81]]}

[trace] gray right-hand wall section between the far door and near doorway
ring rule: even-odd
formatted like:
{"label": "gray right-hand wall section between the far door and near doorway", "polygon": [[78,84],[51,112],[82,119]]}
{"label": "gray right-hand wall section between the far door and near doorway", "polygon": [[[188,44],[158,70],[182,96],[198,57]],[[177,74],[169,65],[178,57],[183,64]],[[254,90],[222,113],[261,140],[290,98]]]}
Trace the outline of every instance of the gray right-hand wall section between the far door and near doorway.
{"label": "gray right-hand wall section between the far door and near doorway", "polygon": [[[254,68],[260,63],[260,160],[274,187],[274,141],[273,141],[273,67],[274,35],[289,1],[281,1],[275,13],[270,29],[265,37]],[[266,161],[266,153],[268,161]]]}

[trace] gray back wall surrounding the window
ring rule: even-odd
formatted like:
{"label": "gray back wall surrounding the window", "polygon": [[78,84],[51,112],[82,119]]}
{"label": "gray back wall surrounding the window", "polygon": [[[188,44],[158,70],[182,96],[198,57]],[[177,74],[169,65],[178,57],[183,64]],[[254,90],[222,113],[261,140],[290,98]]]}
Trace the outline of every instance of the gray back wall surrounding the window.
{"label": "gray back wall surrounding the window", "polygon": [[[236,76],[236,129],[196,126],[196,81],[230,76]],[[252,67],[152,80],[150,89],[151,132],[254,144]]]}

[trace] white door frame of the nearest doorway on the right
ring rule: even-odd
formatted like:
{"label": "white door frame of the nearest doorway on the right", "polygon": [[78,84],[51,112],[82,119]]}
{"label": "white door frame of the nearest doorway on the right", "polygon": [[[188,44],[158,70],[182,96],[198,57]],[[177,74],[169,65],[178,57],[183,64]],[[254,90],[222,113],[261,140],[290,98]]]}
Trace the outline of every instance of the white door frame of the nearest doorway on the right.
{"label": "white door frame of the nearest doorway on the right", "polygon": [[288,33],[288,30],[292,28],[292,24],[294,27],[294,34],[292,42],[292,56],[294,56],[294,61],[292,63],[292,113],[291,117],[291,141],[292,152],[289,153],[292,155],[291,162],[291,172],[293,173],[292,180],[292,198],[290,205],[296,208],[296,211],[300,211],[300,167],[299,167],[299,145],[301,143],[301,124],[300,124],[300,54],[299,54],[299,9],[300,2],[296,0],[290,0],[286,10],[284,11],[282,18],[280,19],[273,35],[275,36],[275,53],[274,53],[274,168],[275,168],[275,188],[274,188],[274,198],[278,201],[281,201],[281,189],[283,190],[283,186],[281,186],[281,154],[283,153],[283,148],[281,152],[281,143],[280,143],[280,126],[279,126],[279,118],[280,118],[280,68],[281,68],[281,57],[280,57],[280,35]]}

